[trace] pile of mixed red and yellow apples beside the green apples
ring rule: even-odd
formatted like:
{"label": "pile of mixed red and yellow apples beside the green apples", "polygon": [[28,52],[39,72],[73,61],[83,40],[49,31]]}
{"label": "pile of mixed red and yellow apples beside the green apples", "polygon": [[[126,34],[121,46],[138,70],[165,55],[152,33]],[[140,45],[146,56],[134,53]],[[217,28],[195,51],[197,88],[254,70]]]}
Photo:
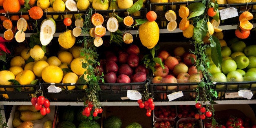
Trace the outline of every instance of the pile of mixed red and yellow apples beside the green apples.
{"label": "pile of mixed red and yellow apples beside the green apples", "polygon": [[[152,83],[187,83],[201,81],[201,73],[193,66],[196,62],[196,55],[185,51],[182,46],[176,47],[173,51],[173,55],[168,51],[162,50],[157,54],[157,57],[161,58],[164,68],[156,64]],[[157,89],[166,90],[166,86],[162,87],[163,88]],[[176,88],[177,86],[167,87],[168,90]]]}

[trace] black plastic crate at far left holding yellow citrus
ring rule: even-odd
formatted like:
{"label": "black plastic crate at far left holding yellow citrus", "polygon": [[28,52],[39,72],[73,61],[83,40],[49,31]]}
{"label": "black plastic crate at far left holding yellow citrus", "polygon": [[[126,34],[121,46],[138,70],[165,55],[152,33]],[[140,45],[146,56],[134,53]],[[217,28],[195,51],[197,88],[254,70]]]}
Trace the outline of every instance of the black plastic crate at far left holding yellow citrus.
{"label": "black plastic crate at far left holding yellow citrus", "polygon": [[39,85],[0,85],[1,101],[30,101]]}

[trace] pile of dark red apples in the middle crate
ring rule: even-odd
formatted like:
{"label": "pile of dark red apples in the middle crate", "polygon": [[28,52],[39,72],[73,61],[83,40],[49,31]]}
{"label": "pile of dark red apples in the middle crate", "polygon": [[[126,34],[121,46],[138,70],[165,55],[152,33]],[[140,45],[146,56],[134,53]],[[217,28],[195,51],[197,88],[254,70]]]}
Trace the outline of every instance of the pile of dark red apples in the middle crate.
{"label": "pile of dark red apples in the middle crate", "polygon": [[118,51],[117,54],[114,51],[105,51],[105,58],[97,66],[104,73],[105,83],[145,82],[148,69],[139,64],[139,53],[140,49],[135,44]]}

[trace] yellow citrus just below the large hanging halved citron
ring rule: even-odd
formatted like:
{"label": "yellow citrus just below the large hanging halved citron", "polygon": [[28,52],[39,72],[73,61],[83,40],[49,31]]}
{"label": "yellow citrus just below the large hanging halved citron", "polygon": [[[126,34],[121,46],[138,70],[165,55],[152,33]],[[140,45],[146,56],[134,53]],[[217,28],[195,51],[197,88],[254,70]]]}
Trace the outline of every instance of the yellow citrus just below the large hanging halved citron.
{"label": "yellow citrus just below the large hanging halved citron", "polygon": [[30,49],[29,53],[34,60],[40,60],[44,57],[44,51],[39,45],[35,45],[32,49]]}

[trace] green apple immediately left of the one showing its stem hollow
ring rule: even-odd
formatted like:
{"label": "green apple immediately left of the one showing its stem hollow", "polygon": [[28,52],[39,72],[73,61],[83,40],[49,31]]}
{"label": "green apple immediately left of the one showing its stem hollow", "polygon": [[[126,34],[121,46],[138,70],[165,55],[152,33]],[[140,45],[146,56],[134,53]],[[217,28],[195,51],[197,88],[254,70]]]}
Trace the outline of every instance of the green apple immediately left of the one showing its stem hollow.
{"label": "green apple immediately left of the one showing its stem hollow", "polygon": [[224,60],[221,63],[221,70],[224,74],[227,74],[231,71],[236,71],[236,67],[236,62],[231,59]]}

